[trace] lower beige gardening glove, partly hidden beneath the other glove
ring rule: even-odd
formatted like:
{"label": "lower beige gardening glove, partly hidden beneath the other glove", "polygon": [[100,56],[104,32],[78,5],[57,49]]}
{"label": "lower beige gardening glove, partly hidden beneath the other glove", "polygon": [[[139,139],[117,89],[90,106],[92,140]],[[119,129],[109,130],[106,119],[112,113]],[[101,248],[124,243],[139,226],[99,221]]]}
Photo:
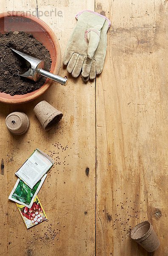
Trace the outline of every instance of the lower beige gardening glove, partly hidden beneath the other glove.
{"label": "lower beige gardening glove, partly hidden beneath the other glove", "polygon": [[90,61],[90,59],[85,58],[84,60],[81,73],[81,77],[84,82],[88,81],[89,79],[95,79],[96,75],[100,74],[103,70],[107,48],[107,31],[110,24],[110,21],[106,19],[104,26],[101,29],[100,42],[95,51],[93,59]]}

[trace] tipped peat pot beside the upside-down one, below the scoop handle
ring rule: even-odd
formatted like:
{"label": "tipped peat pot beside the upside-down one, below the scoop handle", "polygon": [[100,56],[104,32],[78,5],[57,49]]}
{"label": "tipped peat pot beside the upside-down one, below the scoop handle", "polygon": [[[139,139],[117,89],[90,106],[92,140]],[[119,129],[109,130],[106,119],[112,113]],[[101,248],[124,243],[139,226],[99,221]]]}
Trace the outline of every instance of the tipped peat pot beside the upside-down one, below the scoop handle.
{"label": "tipped peat pot beside the upside-down one, below the scoop handle", "polygon": [[34,113],[42,124],[45,131],[50,130],[54,125],[56,125],[61,119],[63,114],[51,106],[45,100],[39,102],[34,107]]}

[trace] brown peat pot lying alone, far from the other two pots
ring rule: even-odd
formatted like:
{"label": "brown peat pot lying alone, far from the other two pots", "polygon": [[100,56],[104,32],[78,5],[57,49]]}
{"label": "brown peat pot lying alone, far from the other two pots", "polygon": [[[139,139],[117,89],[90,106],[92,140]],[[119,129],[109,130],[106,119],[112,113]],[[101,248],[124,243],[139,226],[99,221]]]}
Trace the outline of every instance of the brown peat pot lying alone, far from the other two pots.
{"label": "brown peat pot lying alone, far from the other two pots", "polygon": [[160,246],[160,241],[149,221],[143,221],[132,229],[131,238],[151,253]]}

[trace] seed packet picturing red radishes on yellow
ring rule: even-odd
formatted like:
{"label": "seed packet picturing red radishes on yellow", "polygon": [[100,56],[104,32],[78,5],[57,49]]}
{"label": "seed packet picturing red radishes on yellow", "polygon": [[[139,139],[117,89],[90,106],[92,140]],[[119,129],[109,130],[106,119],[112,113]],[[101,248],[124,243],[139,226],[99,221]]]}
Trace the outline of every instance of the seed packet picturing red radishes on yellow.
{"label": "seed packet picturing red radishes on yellow", "polygon": [[22,204],[16,203],[16,205],[27,229],[48,219],[37,196],[30,209]]}

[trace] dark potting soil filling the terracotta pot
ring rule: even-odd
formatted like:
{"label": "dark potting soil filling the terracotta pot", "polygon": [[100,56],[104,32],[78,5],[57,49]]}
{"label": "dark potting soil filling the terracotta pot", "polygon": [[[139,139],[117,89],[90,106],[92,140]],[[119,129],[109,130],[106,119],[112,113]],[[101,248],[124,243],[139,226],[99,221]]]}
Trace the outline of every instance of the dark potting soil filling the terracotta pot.
{"label": "dark potting soil filling the terracotta pot", "polygon": [[45,61],[47,71],[50,71],[51,67],[50,52],[32,34],[23,31],[0,34],[0,92],[14,96],[39,89],[45,83],[45,77],[41,77],[37,82],[21,78],[19,74],[28,69],[24,60],[10,47]]}

